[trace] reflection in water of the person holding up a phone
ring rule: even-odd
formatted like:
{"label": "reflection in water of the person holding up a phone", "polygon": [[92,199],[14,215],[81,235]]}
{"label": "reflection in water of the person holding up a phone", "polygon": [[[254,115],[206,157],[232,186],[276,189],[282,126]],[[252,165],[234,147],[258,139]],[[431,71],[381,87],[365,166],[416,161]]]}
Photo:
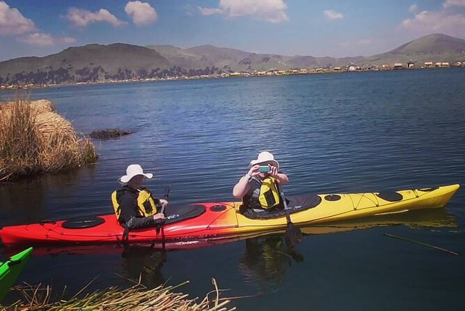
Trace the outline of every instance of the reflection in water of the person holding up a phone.
{"label": "reflection in water of the person holding up a phone", "polygon": [[304,257],[288,249],[282,236],[260,236],[246,240],[244,257],[239,261],[239,271],[246,282],[258,287],[258,294],[276,292],[283,285],[288,267]]}

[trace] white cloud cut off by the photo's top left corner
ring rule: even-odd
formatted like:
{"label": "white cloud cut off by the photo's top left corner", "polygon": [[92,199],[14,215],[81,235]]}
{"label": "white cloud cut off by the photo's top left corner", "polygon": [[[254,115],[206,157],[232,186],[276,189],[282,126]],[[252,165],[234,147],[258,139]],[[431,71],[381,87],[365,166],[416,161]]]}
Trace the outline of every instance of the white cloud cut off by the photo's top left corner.
{"label": "white cloud cut off by the photo's top left corner", "polygon": [[32,20],[24,17],[17,8],[0,1],[0,35],[23,34],[36,31]]}

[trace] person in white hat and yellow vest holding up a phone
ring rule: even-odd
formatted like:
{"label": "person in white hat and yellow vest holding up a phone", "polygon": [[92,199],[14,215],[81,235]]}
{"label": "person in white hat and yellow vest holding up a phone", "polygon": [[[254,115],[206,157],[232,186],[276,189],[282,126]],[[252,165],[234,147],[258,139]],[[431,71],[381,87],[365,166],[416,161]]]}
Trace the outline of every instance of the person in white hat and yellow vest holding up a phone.
{"label": "person in white hat and yellow vest holding up a phone", "polygon": [[279,172],[279,163],[274,160],[274,155],[262,151],[250,166],[249,172],[232,189],[232,195],[242,199],[241,212],[283,209],[279,187],[285,185],[289,177]]}

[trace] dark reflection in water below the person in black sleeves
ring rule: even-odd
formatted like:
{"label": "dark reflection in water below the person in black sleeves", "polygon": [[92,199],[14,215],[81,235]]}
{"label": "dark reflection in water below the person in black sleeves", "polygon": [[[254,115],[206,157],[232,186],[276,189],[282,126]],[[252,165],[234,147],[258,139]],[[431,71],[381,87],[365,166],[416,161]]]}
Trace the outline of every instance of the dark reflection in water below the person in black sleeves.
{"label": "dark reflection in water below the person in black sleeves", "polygon": [[123,254],[123,275],[146,287],[157,287],[166,279],[161,273],[161,268],[166,261],[166,252],[155,250],[152,245],[126,245]]}

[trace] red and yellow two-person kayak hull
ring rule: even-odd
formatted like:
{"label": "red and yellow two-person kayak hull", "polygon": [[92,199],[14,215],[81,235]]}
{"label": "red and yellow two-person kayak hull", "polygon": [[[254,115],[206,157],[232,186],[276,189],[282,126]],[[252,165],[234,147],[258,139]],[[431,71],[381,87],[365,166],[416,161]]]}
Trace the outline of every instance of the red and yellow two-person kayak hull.
{"label": "red and yellow two-person kayak hull", "polygon": [[[295,225],[304,226],[422,208],[440,208],[449,202],[458,189],[459,185],[446,185],[397,192],[317,195],[314,197],[318,197],[318,204],[311,208],[297,206],[291,209],[291,218]],[[292,200],[292,197],[290,199]],[[133,242],[212,240],[252,236],[258,232],[274,232],[287,225],[285,216],[266,219],[248,218],[239,213],[240,202],[192,205],[205,206],[205,212],[195,218],[169,223],[161,228],[132,230],[129,232],[128,240]],[[176,210],[176,206],[168,206],[168,208],[174,212]],[[99,225],[77,229],[63,227],[65,221],[3,227],[0,229],[0,237],[6,245],[122,242],[124,229],[118,224],[115,215],[102,215],[99,218],[102,222]]]}

